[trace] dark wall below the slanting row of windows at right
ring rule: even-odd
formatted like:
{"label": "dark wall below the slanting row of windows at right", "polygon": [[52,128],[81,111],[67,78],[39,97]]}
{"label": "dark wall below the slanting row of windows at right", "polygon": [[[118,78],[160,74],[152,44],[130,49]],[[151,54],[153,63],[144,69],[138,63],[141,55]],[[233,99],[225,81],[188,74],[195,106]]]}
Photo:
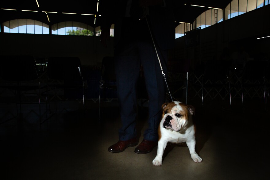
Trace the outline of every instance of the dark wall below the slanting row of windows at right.
{"label": "dark wall below the slanting row of windows at right", "polygon": [[225,47],[229,48],[229,53],[233,53],[239,46],[243,46],[255,60],[261,59],[261,56],[270,59],[270,37],[257,39],[270,36],[270,5],[198,31],[199,45],[186,48],[186,36],[176,39],[176,47],[171,53],[174,58],[191,59],[195,67],[197,63],[219,59]]}

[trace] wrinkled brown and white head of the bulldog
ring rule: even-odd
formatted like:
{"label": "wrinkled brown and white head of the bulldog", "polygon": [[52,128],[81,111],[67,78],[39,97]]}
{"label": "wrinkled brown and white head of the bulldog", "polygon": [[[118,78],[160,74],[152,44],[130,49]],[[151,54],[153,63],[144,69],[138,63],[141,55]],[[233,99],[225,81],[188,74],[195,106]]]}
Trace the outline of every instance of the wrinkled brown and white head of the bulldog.
{"label": "wrinkled brown and white head of the bulldog", "polygon": [[162,105],[162,127],[180,131],[194,114],[195,108],[179,101],[166,102]]}

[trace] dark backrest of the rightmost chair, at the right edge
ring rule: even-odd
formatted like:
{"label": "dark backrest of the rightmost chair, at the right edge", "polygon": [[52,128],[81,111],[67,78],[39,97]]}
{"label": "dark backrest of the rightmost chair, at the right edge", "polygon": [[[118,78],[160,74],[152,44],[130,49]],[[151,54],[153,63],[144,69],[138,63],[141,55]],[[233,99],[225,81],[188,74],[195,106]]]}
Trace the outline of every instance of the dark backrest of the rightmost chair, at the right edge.
{"label": "dark backrest of the rightmost chair, at the right edge", "polygon": [[247,61],[245,64],[242,77],[243,79],[261,79],[266,75],[266,68],[268,67],[268,61]]}

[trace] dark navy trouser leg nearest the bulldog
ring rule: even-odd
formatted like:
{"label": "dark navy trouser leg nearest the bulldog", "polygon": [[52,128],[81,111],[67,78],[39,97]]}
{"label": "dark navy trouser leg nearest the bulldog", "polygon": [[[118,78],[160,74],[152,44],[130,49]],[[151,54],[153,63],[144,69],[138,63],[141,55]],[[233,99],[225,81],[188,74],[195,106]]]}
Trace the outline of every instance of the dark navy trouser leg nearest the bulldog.
{"label": "dark navy trouser leg nearest the bulldog", "polygon": [[[140,44],[140,55],[145,75],[145,85],[149,95],[149,118],[148,128],[144,132],[144,139],[150,141],[158,141],[157,128],[161,118],[161,105],[165,102],[166,86],[162,75],[159,60],[152,42],[143,42]],[[167,73],[166,51],[159,52],[159,58],[163,72]],[[166,62],[166,63],[165,63]]]}

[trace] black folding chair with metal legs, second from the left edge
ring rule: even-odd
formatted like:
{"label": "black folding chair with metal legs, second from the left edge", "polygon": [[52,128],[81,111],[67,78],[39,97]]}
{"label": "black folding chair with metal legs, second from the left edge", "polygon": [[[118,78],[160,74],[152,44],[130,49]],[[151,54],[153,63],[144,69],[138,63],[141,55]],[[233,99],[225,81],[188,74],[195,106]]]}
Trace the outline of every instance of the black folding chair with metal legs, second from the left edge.
{"label": "black folding chair with metal legs, second from the left edge", "polygon": [[[57,112],[57,101],[67,101],[69,99],[82,99],[83,117],[85,117],[85,86],[80,59],[78,57],[49,57],[47,71],[47,119]],[[54,92],[53,94],[50,94],[51,90]],[[50,98],[49,95],[52,95],[52,97]],[[55,112],[51,113],[50,101],[53,99],[55,100]],[[50,117],[48,117],[48,106]]]}

